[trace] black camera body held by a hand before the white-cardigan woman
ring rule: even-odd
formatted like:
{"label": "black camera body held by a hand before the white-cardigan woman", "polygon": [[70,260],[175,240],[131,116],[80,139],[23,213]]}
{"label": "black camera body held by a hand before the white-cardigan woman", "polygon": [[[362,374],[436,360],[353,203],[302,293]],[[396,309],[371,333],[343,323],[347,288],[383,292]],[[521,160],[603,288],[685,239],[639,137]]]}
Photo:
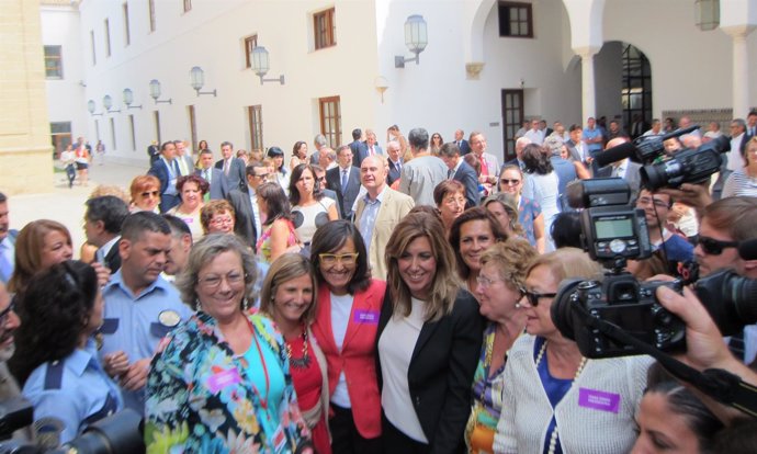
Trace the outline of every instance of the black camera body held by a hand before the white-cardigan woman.
{"label": "black camera body held by a hand before the white-cardigan woman", "polygon": [[659,286],[681,292],[679,282],[642,283],[628,273],[608,275],[602,282],[565,281],[552,303],[552,320],[590,359],[640,354],[634,347],[603,334],[594,326],[596,320],[610,322],[659,350],[683,351],[686,325],[657,303]]}

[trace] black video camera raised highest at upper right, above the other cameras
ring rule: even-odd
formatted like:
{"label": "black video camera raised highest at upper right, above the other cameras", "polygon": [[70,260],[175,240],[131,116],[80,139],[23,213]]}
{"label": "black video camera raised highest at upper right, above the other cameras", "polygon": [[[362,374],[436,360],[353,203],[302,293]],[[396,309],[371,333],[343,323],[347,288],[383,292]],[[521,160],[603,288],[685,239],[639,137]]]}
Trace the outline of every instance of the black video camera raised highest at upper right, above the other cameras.
{"label": "black video camera raised highest at upper right, above the other cameras", "polygon": [[676,151],[667,160],[642,167],[642,185],[649,191],[678,188],[683,183],[701,183],[718,172],[723,163],[721,154],[731,149],[727,137],[718,137],[699,148]]}

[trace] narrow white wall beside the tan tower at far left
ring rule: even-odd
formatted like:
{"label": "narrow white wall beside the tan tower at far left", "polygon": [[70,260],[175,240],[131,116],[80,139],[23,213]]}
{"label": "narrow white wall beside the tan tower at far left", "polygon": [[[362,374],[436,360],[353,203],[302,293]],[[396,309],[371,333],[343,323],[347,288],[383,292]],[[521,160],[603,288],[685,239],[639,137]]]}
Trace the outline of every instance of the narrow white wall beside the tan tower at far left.
{"label": "narrow white wall beside the tan tower at far left", "polygon": [[81,86],[84,71],[78,32],[79,13],[75,7],[41,5],[39,19],[43,45],[61,46],[63,53],[63,79],[47,79],[45,82],[49,121],[70,122],[76,141],[77,136],[86,135],[89,116],[84,87]]}

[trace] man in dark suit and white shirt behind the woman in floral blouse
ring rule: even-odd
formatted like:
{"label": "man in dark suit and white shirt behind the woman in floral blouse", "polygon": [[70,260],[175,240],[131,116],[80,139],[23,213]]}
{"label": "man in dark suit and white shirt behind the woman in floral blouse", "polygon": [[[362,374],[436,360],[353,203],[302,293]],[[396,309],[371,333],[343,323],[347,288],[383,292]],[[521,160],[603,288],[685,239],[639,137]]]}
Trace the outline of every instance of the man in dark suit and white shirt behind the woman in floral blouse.
{"label": "man in dark suit and white shirt behind the woman in floral blouse", "polygon": [[233,188],[226,200],[234,207],[236,216],[234,232],[244,238],[245,242],[255,250],[258,235],[262,228],[260,207],[258,207],[258,186],[269,181],[271,175],[269,175],[268,167],[263,166],[262,162],[250,163],[245,173],[247,177],[246,190]]}

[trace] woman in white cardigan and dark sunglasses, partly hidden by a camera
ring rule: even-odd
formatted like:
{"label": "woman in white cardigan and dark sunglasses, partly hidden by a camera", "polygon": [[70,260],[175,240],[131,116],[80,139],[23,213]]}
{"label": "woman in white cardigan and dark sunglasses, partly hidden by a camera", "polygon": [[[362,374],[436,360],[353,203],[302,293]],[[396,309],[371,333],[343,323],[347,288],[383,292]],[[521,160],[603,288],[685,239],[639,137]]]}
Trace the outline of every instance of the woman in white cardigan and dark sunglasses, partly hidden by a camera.
{"label": "woman in white cardigan and dark sunglasses, partly hidden by a camera", "polygon": [[551,317],[560,282],[596,280],[601,268],[576,248],[527,268],[520,307],[526,332],[508,353],[495,453],[626,453],[646,386],[648,356],[587,360]]}

